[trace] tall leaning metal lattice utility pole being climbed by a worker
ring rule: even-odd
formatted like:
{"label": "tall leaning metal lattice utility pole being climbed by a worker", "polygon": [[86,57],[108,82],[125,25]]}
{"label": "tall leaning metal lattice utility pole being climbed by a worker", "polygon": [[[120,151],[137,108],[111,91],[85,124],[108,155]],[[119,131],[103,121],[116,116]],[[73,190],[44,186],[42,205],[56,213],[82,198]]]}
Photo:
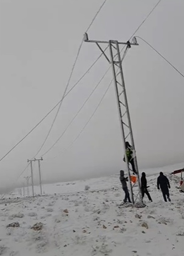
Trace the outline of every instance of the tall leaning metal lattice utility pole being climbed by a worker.
{"label": "tall leaning metal lattice utility pole being climbed by a worker", "polygon": [[[132,199],[132,203],[135,204],[136,199],[140,198],[140,202],[142,203],[142,192],[140,188],[140,177],[139,177],[139,172],[138,172],[138,164],[137,164],[137,158],[136,158],[136,150],[135,150],[135,144],[134,144],[134,138],[133,138],[133,133],[132,133],[132,125],[130,121],[130,113],[129,113],[129,108],[128,108],[128,100],[126,96],[126,88],[125,88],[125,82],[124,82],[124,76],[123,76],[123,70],[122,70],[122,60],[124,56],[126,55],[127,51],[131,46],[136,46],[137,41],[136,38],[133,38],[132,42],[118,42],[117,40],[109,40],[109,41],[99,41],[99,40],[89,40],[88,39],[88,34],[84,34],[84,42],[90,42],[90,43],[95,43],[100,51],[104,54],[106,60],[108,60],[109,64],[112,66],[112,73],[113,73],[113,78],[114,78],[114,86],[115,86],[115,91],[116,91],[116,100],[117,100],[117,105],[118,105],[118,113],[119,113],[119,120],[120,120],[120,126],[121,126],[121,133],[122,133],[122,140],[123,140],[123,145],[124,145],[124,155],[125,155],[125,162],[126,162],[126,169],[128,172],[128,182],[129,182],[129,187],[130,187],[130,195]],[[101,44],[107,44],[110,50],[110,58],[108,55],[105,53],[105,50],[102,49],[100,46]],[[121,59],[121,53],[120,53],[120,45],[125,45],[126,49],[124,51],[124,55]],[[134,166],[136,170],[136,183],[138,184],[138,194],[135,195],[133,193],[133,189],[135,184],[132,186],[131,182],[131,174],[129,166],[129,162],[126,156],[126,142],[127,139],[129,138],[131,145],[132,145],[132,152],[133,152],[133,160],[134,160]],[[122,154],[123,155],[123,154]],[[142,205],[143,206],[143,205]],[[140,206],[141,207],[141,206]]]}

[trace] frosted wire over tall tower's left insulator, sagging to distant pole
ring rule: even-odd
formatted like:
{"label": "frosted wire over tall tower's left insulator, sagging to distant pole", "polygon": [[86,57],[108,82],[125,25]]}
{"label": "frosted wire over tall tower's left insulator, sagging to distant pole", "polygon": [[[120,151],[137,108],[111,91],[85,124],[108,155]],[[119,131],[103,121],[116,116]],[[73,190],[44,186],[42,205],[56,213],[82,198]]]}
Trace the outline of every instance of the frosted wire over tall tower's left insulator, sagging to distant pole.
{"label": "frosted wire over tall tower's left insulator, sagging to distant pole", "polygon": [[[95,14],[94,18],[92,19],[92,22],[90,23],[90,25],[88,26],[88,28],[87,28],[86,31],[88,31],[88,30],[90,29],[90,27],[92,26],[94,20],[96,19],[97,15],[99,14],[100,10],[102,9],[102,7],[103,7],[104,4],[106,3],[106,1],[107,1],[107,0],[105,0],[105,1],[103,2],[103,4],[100,6],[100,8],[98,9],[98,12]],[[50,126],[49,131],[48,131],[48,134],[46,135],[46,138],[44,139],[44,142],[42,143],[41,147],[39,148],[38,152],[35,154],[34,157],[36,157],[36,156],[38,155],[38,153],[42,150],[44,144],[46,143],[46,141],[47,141],[47,139],[48,139],[48,136],[50,135],[50,132],[51,132],[53,126],[54,126],[54,123],[56,122],[56,118],[57,118],[57,116],[58,116],[58,113],[59,113],[60,108],[61,108],[61,106],[62,106],[62,102],[63,102],[64,96],[65,96],[66,91],[67,91],[67,89],[68,89],[68,86],[69,86],[69,84],[70,84],[70,80],[71,80],[71,78],[72,78],[72,74],[73,74],[73,72],[74,72],[74,68],[75,68],[75,66],[76,66],[76,62],[77,62],[77,60],[78,60],[78,57],[79,57],[80,50],[81,50],[81,48],[82,48],[83,42],[84,42],[84,40],[83,40],[83,38],[82,38],[82,41],[81,41],[80,46],[79,46],[79,48],[78,48],[78,52],[77,52],[76,59],[75,59],[74,64],[73,64],[73,66],[72,66],[72,71],[71,71],[71,73],[70,73],[68,82],[67,82],[66,87],[65,87],[65,90],[64,90],[64,94],[63,94],[63,96],[62,96],[62,100],[61,100],[61,102],[60,102],[60,104],[59,104],[59,107],[58,107],[58,110],[57,110],[56,115],[55,115],[55,117],[54,117],[54,120],[52,121],[52,124],[51,124],[51,126]]]}

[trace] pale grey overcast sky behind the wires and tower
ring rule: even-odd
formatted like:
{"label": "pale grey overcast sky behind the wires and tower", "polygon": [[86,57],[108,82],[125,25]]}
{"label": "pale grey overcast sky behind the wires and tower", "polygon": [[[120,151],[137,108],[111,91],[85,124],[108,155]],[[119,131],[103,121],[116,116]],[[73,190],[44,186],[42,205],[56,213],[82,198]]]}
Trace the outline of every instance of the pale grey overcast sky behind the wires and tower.
{"label": "pale grey overcast sky behind the wires and tower", "polygon": [[[0,0],[0,156],[62,97],[83,33],[102,2]],[[88,32],[90,39],[127,41],[156,2],[108,0]],[[183,10],[183,0],[162,0],[136,33],[181,72]],[[138,43],[123,62],[138,164],[148,168],[183,162],[184,79],[144,42]],[[83,44],[70,88],[99,55],[94,44]],[[101,58],[64,100],[38,156],[60,136],[107,68],[108,62]],[[44,180],[115,174],[124,168],[113,84],[84,132],[62,153],[87,122],[111,79],[109,72],[62,140],[44,156]],[[0,162],[0,186],[16,181],[27,159],[41,146],[55,113]],[[37,172],[35,166],[35,179]]]}

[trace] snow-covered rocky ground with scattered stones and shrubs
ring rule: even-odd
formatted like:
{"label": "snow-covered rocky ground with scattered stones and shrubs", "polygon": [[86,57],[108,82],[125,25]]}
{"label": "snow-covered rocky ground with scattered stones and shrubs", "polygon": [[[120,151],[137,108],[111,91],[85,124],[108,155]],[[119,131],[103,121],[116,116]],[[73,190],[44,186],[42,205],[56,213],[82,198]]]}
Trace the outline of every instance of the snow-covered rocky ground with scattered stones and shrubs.
{"label": "snow-covered rocky ground with scattered stones and shrubs", "polygon": [[[16,190],[13,199],[0,201],[0,255],[184,255],[179,177],[167,174],[172,202],[165,203],[157,176],[147,176],[153,202],[145,197],[145,208],[118,208],[124,198],[118,175],[44,185],[44,196],[35,198],[17,199]],[[7,228],[12,222],[20,226]],[[43,224],[40,231],[31,228],[37,222]]]}

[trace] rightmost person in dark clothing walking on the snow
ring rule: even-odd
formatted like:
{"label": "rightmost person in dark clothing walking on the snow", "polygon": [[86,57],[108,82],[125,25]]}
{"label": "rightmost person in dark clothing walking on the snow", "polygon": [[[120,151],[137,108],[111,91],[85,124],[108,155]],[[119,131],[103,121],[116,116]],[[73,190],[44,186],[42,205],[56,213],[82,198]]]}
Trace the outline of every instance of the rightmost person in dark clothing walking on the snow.
{"label": "rightmost person in dark clothing walking on the snow", "polygon": [[162,190],[164,201],[167,202],[167,199],[168,199],[168,201],[170,202],[171,201],[169,197],[170,183],[168,178],[163,174],[163,172],[160,172],[160,176],[158,176],[157,178],[157,188]]}

